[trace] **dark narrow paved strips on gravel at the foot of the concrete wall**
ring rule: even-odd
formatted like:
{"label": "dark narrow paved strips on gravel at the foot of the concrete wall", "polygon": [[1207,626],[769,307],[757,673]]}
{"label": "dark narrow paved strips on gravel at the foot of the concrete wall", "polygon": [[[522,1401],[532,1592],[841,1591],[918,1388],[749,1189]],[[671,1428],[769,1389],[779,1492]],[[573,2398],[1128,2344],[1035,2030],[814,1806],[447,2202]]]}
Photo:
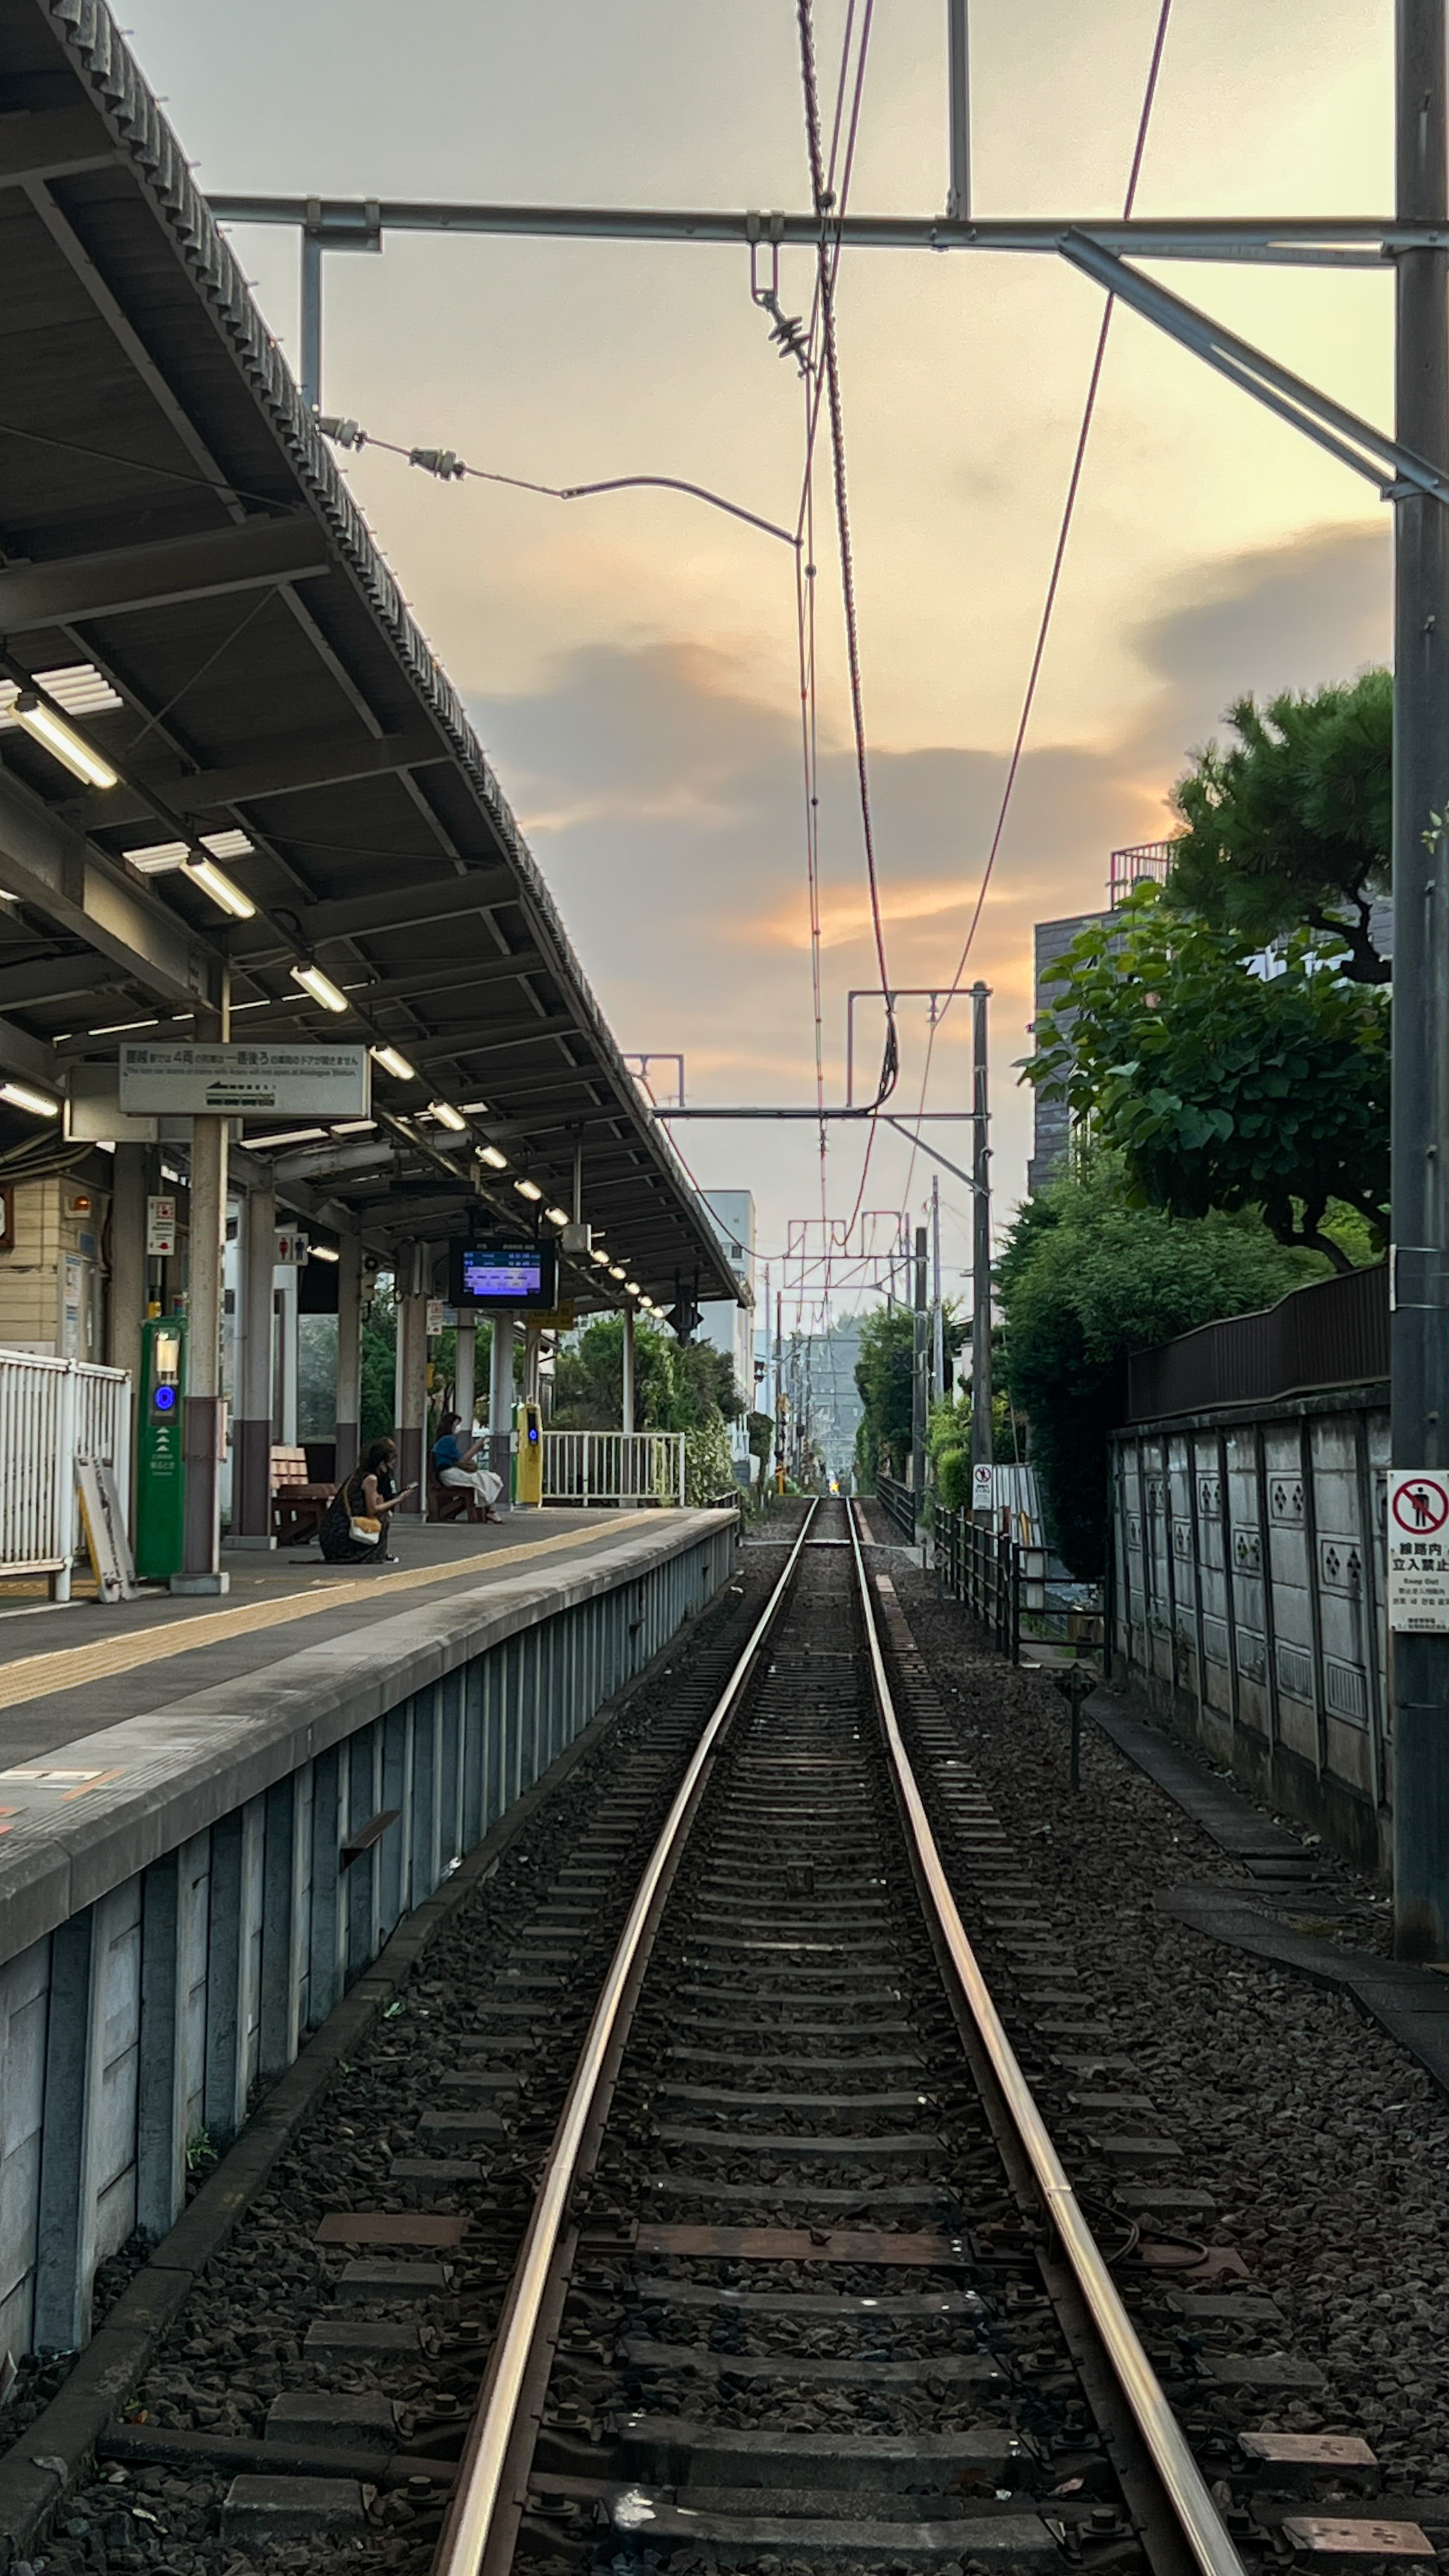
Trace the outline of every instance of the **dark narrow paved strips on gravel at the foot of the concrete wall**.
{"label": "dark narrow paved strips on gravel at the foot of the concrete wall", "polygon": [[[1102,1734],[1127,1754],[1148,1780],[1156,1780],[1168,1798],[1181,1806],[1204,1834],[1243,1862],[1307,1857],[1310,1847],[1287,1826],[1264,1816],[1251,1798],[1220,1780],[1192,1747],[1176,1744],[1143,1726],[1104,1690],[1094,1692],[1086,1713]],[[1449,2094],[1449,1976],[1436,1968],[1413,1968],[1405,1960],[1382,1958],[1377,1950],[1351,1950],[1346,1942],[1318,1940],[1279,1922],[1266,1906],[1253,1904],[1251,1888],[1168,1888],[1156,1899],[1158,1914],[1171,1914],[1207,1940],[1233,1950],[1248,1950],[1277,1968],[1292,1968],[1315,1986],[1333,1986],[1351,1994],[1359,2012],[1380,2022],[1400,2048],[1434,2076]]]}

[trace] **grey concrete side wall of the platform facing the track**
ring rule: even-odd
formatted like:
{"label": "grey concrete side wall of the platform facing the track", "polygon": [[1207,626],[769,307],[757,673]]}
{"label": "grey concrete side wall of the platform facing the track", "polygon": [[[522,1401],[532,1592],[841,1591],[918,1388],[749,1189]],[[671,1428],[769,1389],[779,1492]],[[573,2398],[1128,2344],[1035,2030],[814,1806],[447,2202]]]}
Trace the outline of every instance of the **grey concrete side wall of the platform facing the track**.
{"label": "grey concrete side wall of the platform facing the track", "polygon": [[[31,1816],[0,1844],[0,2352],[85,2342],[95,2264],[134,2228],[165,2233],[188,2148],[232,2141],[255,2087],[703,1607],[734,1546],[734,1515],[669,1515],[587,1566],[368,1628],[365,1695],[342,1672],[329,1708],[340,1649],[317,1646],[54,1757],[106,1747],[111,1772],[90,1816],[82,1801],[49,1834]],[[49,1922],[26,1937],[36,1906]]]}

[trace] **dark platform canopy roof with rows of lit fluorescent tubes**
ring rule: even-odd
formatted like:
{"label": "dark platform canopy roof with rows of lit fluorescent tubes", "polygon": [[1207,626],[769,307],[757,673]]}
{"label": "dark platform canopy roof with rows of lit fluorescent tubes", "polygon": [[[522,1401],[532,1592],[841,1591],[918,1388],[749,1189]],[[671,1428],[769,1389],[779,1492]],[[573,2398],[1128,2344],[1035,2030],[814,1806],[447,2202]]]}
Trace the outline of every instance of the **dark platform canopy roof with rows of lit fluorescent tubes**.
{"label": "dark platform canopy roof with rows of lit fluorescent tubes", "polygon": [[[15,719],[31,680],[116,786]],[[517,1224],[515,1177],[571,1213],[579,1175],[584,1221],[641,1288],[739,1296],[98,0],[0,0],[0,1077],[57,1095],[126,1023],[216,1036],[229,976],[234,1041],[389,1046],[414,1069],[373,1064],[371,1131],[250,1133],[293,1206],[386,1252],[479,1203]],[[23,1110],[0,1121],[0,1144],[33,1133]],[[589,1262],[566,1285],[615,1296]]]}

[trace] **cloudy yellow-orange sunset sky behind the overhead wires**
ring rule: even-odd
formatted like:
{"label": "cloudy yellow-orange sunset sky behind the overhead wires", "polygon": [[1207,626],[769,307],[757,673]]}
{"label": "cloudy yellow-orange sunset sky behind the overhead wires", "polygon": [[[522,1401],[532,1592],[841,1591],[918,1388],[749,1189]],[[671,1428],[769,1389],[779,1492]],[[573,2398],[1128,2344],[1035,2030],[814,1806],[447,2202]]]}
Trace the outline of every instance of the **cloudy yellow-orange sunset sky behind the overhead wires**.
{"label": "cloudy yellow-orange sunset sky behind the overhead wires", "polygon": [[[347,196],[806,206],[793,0],[131,0],[198,180]],[[1158,0],[973,0],[975,211],[1120,211]],[[818,0],[829,88],[842,8]],[[1390,206],[1387,0],[1176,0],[1140,214]],[[854,211],[945,201],[945,0],[878,0]],[[296,242],[239,232],[296,353]],[[1163,270],[1300,374],[1390,420],[1390,278]],[[785,263],[808,307],[811,260]],[[891,979],[955,971],[1017,724],[1096,337],[1050,258],[854,252],[839,335]],[[744,250],[389,237],[327,260],[324,407],[538,482],[679,474],[790,523],[800,384]],[[811,1100],[811,961],[785,546],[695,502],[558,505],[347,461],[461,685],[625,1048],[682,1051],[695,1100]],[[821,505],[829,489],[821,484]],[[875,981],[834,536],[821,507],[826,1082]],[[1120,314],[1037,698],[970,971],[993,987],[996,1226],[1029,1133],[1014,1059],[1032,922],[1104,899],[1112,845],[1168,827],[1192,744],[1243,688],[1387,657],[1374,489]],[[919,1100],[903,1005],[898,1103]],[[875,1033],[878,1043],[878,1033]],[[865,1048],[870,1054],[870,1048]],[[862,1077],[867,1064],[862,1056]],[[932,1108],[965,1103],[965,1012]],[[952,1159],[968,1128],[932,1128]],[[679,1126],[752,1188],[762,1252],[818,1213],[806,1126]],[[831,1213],[862,1139],[834,1131]],[[867,1208],[921,1213],[885,1136]],[[942,1175],[947,1288],[965,1193]],[[844,1303],[852,1303],[847,1298]]]}

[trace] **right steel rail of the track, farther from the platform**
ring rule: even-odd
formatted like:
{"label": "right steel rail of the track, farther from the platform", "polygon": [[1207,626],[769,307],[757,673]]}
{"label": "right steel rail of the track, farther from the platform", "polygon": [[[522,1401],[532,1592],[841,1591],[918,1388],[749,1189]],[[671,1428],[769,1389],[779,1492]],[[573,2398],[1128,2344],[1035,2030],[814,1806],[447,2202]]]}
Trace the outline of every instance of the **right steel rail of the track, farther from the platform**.
{"label": "right steel rail of the track, farther from the platform", "polygon": [[921,1880],[929,1891],[945,1950],[960,1981],[960,1991],[975,2022],[975,2032],[991,2063],[991,2074],[1001,2087],[1006,2112],[1032,2166],[1050,2226],[1076,2275],[1076,2285],[1086,2300],[1091,2324],[1102,2339],[1107,2360],[1112,2362],[1117,2385],[1127,2398],[1127,2406],[1145,2442],[1148,2458],[1163,2486],[1163,2494],[1171,2504],[1181,2537],[1186,2540],[1197,2566],[1202,2568],[1202,2576],[1246,2576],[1243,2561],[1238,2558],[1233,2537],[1212,2496],[1207,2494],[1207,2483],[1202,2478],[1197,2460],[1192,2458],[1192,2447],[1181,2432],[1181,2424],[1176,2421],[1163,2396],[1161,2380],[1148,2354],[1143,2352],[1143,2344],[1138,2342],[1138,2331],[1122,2306],[1117,2282],[1112,2280],[1102,2249],[1091,2228],[1086,2226],[1086,2218],[1081,2215],[1076,2192],[1066,2179],[1066,2166],[1037,2110],[1032,2087],[1022,2074],[1017,2050],[1006,2038],[986,1976],[981,1973],[981,1960],[975,1958],[975,1950],[970,1947],[970,1940],[965,1935],[965,1924],[960,1919],[942,1865],[942,1855],[937,1850],[937,1837],[932,1834],[921,1790],[911,1770],[911,1757],[901,1736],[896,1703],[891,1698],[891,1682],[885,1677],[885,1656],[880,1654],[880,1628],[875,1618],[875,1595],[870,1589],[865,1574],[865,1556],[860,1548],[860,1504],[854,1502],[847,1504],[847,1520],[849,1520],[854,1574],[865,1610],[865,1636],[870,1641],[870,1672],[875,1682],[875,1698],[880,1705],[880,1723],[885,1731],[891,1767],[896,1772],[901,1806],[906,1814],[906,1824],[911,1829],[911,1839],[916,1844],[916,1862],[921,1870]]}

